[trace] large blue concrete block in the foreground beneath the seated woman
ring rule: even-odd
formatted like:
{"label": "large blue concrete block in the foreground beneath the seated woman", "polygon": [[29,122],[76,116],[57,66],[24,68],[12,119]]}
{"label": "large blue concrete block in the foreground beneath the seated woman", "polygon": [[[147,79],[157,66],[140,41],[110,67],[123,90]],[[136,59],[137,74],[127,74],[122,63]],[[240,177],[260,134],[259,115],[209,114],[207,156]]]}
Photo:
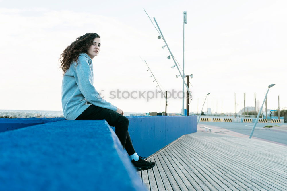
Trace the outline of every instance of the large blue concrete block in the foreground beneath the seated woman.
{"label": "large blue concrete block in the foreground beneath the seated woman", "polygon": [[0,153],[1,190],[146,190],[105,120],[2,132]]}

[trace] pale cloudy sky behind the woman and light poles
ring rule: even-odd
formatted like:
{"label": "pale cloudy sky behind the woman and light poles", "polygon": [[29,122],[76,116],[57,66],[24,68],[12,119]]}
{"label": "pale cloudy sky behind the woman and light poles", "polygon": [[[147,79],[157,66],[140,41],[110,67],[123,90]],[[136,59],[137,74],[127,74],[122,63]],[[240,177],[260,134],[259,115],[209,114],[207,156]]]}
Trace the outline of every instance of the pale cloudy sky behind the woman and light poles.
{"label": "pale cloudy sky behind the woman and light poles", "polygon": [[[183,81],[175,77],[179,71],[171,68],[170,52],[161,48],[165,43],[144,9],[153,22],[155,17],[181,67],[187,11],[184,60],[185,75],[193,74],[191,112],[200,112],[207,93],[203,111],[238,112],[244,92],[246,106],[254,106],[254,93],[262,104],[272,83],[276,85],[269,90],[267,108],[278,108],[278,95],[280,109],[287,108],[285,0],[0,0],[0,109],[62,110],[60,54],[77,37],[95,32],[101,37],[101,51],[92,60],[96,90],[123,112],[164,111],[160,96],[110,96],[117,90],[160,91],[150,70],[162,91],[182,91]],[[181,109],[181,98],[168,99],[168,113]]]}

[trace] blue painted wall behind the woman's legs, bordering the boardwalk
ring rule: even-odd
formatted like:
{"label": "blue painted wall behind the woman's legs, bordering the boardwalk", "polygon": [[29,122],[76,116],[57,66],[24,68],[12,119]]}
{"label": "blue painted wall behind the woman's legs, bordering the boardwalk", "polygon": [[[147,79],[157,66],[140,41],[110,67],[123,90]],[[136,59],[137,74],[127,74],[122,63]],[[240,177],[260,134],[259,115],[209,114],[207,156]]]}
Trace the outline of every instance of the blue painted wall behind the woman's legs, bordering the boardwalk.
{"label": "blue painted wall behind the woman's legs, bordering the boardwalk", "polygon": [[[138,155],[148,157],[182,135],[197,132],[197,116],[128,116]],[[112,127],[115,131],[115,128]]]}

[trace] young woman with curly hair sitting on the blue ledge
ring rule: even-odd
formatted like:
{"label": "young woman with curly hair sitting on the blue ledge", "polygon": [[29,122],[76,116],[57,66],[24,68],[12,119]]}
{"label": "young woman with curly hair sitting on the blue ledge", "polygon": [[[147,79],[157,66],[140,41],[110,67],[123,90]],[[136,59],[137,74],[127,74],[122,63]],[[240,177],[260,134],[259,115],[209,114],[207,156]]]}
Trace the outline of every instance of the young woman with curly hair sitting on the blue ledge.
{"label": "young woman with curly hair sitting on the blue ledge", "polygon": [[138,156],[129,136],[129,119],[123,116],[120,108],[100,97],[93,86],[94,73],[92,59],[99,55],[101,39],[97,33],[86,33],[78,37],[61,54],[60,62],[63,70],[62,107],[67,120],[105,119],[115,127],[123,148],[131,157],[137,169],[147,170],[154,167],[154,162]]}

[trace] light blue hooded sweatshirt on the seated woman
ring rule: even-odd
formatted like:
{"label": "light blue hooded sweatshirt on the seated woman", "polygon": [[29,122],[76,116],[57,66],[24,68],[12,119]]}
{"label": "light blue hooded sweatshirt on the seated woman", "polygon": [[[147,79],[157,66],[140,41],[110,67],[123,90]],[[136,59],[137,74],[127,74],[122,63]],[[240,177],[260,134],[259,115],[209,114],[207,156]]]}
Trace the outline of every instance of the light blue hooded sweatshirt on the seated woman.
{"label": "light blue hooded sweatshirt on the seated woman", "polygon": [[[81,53],[78,65],[72,62],[62,80],[62,108],[66,120],[75,120],[90,105],[117,111],[117,107],[100,97],[95,89],[93,63]],[[77,65],[77,66],[76,66]]]}

